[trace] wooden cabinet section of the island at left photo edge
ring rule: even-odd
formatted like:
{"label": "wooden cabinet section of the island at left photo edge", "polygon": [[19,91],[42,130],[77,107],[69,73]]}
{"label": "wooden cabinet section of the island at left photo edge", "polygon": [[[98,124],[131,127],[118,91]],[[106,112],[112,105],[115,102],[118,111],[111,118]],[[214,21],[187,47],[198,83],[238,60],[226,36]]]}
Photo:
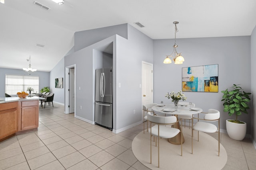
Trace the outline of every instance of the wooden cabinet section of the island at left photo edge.
{"label": "wooden cabinet section of the island at left photo edge", "polygon": [[18,102],[0,105],[0,141],[18,131]]}

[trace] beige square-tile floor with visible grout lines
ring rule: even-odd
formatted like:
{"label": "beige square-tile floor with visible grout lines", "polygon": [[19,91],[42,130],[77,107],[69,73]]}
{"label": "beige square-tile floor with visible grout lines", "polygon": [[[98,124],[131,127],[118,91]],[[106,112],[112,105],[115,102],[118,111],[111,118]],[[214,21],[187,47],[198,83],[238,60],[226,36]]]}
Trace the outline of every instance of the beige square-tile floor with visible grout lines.
{"label": "beige square-tile floor with visible grout lines", "polygon": [[[39,113],[38,131],[0,143],[1,170],[148,170],[131,148],[143,124],[114,134],[64,114],[62,105]],[[223,170],[256,170],[256,150],[250,139],[235,141],[222,133],[221,143],[228,153]]]}

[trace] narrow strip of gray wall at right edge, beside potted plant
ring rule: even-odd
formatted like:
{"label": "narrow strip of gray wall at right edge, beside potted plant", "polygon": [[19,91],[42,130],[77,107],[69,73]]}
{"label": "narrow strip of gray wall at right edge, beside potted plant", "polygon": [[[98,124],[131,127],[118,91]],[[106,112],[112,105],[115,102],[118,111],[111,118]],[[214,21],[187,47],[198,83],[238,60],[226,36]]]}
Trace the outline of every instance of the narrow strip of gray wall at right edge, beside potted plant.
{"label": "narrow strip of gray wall at right edge, beside potted plant", "polygon": [[251,35],[251,88],[252,88],[252,95],[251,95],[251,126],[252,126],[252,139],[254,141],[254,147],[256,147],[256,67],[255,67],[255,63],[256,63],[256,27],[254,27],[254,30],[252,31],[252,35]]}

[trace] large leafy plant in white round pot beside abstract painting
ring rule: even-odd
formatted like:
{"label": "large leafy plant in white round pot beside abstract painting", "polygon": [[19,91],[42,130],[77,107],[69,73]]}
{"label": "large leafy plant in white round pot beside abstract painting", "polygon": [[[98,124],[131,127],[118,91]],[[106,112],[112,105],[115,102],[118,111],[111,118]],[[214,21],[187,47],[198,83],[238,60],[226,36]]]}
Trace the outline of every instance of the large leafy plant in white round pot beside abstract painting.
{"label": "large leafy plant in white round pot beside abstract painting", "polygon": [[246,123],[238,120],[238,116],[242,113],[246,113],[249,109],[248,103],[250,102],[250,94],[244,92],[239,86],[240,84],[233,84],[232,90],[221,91],[223,93],[222,100],[224,101],[224,112],[228,112],[228,115],[235,114],[235,120],[226,120],[226,129],[228,136],[231,139],[242,141],[246,135]]}

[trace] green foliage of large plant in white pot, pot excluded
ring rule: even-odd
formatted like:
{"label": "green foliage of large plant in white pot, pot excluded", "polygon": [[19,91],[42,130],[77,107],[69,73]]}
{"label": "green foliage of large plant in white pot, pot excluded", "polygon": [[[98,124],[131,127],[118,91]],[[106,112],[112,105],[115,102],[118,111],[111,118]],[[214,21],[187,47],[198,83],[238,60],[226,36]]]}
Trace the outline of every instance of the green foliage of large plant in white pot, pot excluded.
{"label": "green foliage of large plant in white pot, pot excluded", "polygon": [[251,93],[244,92],[239,85],[240,84],[233,84],[233,86],[231,86],[232,90],[229,91],[226,89],[221,91],[223,93],[221,101],[224,101],[224,111],[228,112],[230,116],[233,114],[236,115],[236,119],[232,121],[234,123],[243,123],[238,121],[237,118],[239,115],[242,115],[242,113],[248,114],[248,103],[251,100],[249,96]]}

